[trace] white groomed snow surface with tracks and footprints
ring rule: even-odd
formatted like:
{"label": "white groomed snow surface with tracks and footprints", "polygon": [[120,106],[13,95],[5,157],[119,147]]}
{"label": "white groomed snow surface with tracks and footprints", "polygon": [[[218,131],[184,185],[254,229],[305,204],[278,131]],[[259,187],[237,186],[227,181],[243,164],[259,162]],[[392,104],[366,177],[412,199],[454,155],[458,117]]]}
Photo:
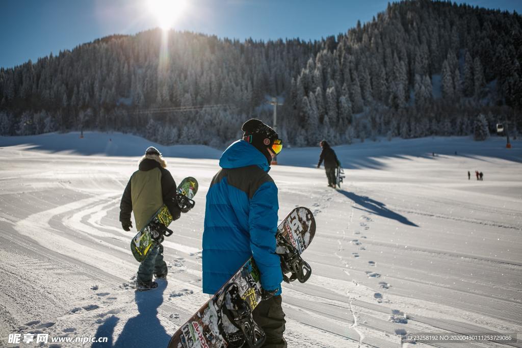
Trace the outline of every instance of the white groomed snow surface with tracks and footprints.
{"label": "white groomed snow surface with tracks and footprints", "polygon": [[[109,337],[92,347],[165,347],[208,300],[201,235],[221,151],[84,135],[0,137],[0,346],[16,346],[9,333],[49,333]],[[121,229],[119,203],[150,145],[167,157],[176,182],[194,176],[199,191],[164,243],[167,281],[135,293],[136,232]],[[522,142],[506,149],[502,138],[437,137],[334,149],[346,173],[340,190],[315,168],[319,148],[284,149],[270,171],[279,216],[305,206],[317,223],[303,254],[312,277],[283,285],[289,347],[400,347],[409,345],[401,344],[405,333],[522,332]]]}

